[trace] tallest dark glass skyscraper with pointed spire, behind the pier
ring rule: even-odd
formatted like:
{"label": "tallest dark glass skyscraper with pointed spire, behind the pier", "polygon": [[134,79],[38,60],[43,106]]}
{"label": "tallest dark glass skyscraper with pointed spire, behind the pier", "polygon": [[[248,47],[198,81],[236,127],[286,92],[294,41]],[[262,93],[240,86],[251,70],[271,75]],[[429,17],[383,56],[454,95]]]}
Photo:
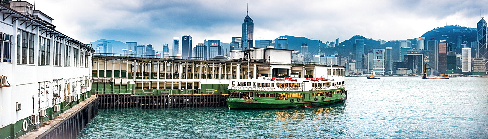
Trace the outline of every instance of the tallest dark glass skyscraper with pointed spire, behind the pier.
{"label": "tallest dark glass skyscraper with pointed spire, behind the pier", "polygon": [[243,37],[241,40],[243,50],[249,50],[253,48],[253,34],[254,34],[254,23],[252,23],[251,17],[249,17],[249,11],[247,11],[247,16],[244,18],[243,23]]}

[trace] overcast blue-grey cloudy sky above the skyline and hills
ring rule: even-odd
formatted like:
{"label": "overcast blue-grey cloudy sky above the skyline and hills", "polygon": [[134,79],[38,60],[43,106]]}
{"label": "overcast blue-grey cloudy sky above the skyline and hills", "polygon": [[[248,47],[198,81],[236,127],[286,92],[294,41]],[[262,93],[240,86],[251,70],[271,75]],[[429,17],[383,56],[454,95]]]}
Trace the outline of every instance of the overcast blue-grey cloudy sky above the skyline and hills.
{"label": "overcast blue-grey cloudy sky above the skyline and hills", "polygon": [[354,35],[406,40],[445,25],[476,28],[488,0],[37,0],[35,9],[86,44],[108,39],[159,49],[182,35],[192,36],[193,45],[229,43],[242,35],[246,3],[255,40],[292,35],[326,42]]}

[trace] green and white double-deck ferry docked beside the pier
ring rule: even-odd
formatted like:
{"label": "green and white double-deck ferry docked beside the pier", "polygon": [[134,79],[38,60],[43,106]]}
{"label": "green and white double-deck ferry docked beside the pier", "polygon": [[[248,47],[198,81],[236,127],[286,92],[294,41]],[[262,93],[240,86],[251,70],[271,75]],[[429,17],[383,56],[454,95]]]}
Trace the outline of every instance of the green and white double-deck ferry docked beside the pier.
{"label": "green and white double-deck ferry docked beside the pier", "polygon": [[236,79],[229,83],[229,109],[323,106],[347,99],[344,78]]}

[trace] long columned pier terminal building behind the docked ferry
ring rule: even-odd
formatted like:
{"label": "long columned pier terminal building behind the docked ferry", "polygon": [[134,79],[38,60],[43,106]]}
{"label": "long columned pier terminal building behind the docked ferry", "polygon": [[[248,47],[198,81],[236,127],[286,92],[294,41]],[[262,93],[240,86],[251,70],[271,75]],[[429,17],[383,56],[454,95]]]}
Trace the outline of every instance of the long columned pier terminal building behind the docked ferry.
{"label": "long columned pier terminal building behind the docked ferry", "polygon": [[344,67],[292,62],[292,50],[252,48],[233,50],[229,58],[190,58],[95,54],[93,91],[134,95],[228,94],[231,79],[317,77],[345,75]]}

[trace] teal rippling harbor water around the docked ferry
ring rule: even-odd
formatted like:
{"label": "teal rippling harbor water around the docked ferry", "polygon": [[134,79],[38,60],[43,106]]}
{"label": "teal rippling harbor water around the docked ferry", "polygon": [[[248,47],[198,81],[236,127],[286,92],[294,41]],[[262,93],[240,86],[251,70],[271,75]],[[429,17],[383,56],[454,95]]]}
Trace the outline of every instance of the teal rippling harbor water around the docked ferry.
{"label": "teal rippling harbor water around the docked ferry", "polygon": [[101,109],[78,138],[488,139],[488,78],[346,77],[322,107]]}

